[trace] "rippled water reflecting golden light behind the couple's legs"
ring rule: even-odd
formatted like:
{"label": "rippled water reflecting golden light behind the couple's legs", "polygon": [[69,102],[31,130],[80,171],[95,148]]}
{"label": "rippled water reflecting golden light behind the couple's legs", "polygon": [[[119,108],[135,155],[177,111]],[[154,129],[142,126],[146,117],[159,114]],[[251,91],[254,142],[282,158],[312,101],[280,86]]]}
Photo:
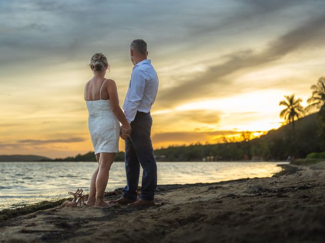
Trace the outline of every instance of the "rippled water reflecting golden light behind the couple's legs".
{"label": "rippled water reflecting golden light behind the couple's legs", "polygon": [[[270,177],[281,171],[274,162],[158,162],[158,184],[218,182]],[[0,163],[0,209],[69,196],[78,187],[88,193],[94,162]],[[142,171],[141,171],[142,173]],[[141,176],[140,183],[141,185]],[[125,186],[124,163],[113,163],[108,188]]]}

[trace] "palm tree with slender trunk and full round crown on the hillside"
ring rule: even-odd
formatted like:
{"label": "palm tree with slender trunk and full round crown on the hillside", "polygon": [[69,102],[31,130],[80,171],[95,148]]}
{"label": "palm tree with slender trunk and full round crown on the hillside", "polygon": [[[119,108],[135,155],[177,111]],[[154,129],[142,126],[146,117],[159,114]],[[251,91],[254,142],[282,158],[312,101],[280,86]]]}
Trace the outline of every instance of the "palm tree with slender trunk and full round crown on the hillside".
{"label": "palm tree with slender trunk and full round crown on the hillside", "polygon": [[296,148],[296,154],[298,152],[296,145],[296,130],[295,130],[295,119],[299,119],[304,114],[304,107],[300,104],[303,100],[301,98],[295,99],[295,94],[285,95],[285,100],[281,100],[279,105],[284,105],[285,109],[280,112],[280,117],[284,118],[285,123],[293,126],[294,132],[294,144]]}

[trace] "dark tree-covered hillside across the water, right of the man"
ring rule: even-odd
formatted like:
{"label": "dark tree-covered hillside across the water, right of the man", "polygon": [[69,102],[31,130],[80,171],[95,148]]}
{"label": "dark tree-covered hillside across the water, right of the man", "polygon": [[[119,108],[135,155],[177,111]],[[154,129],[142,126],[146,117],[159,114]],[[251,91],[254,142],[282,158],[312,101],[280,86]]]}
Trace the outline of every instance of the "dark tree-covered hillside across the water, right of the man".
{"label": "dark tree-covered hillside across the water, right of the man", "polygon": [[317,135],[317,113],[296,121],[298,154],[295,152],[291,125],[271,130],[266,135],[251,141],[169,147],[155,150],[155,155],[164,155],[166,161],[202,160],[286,160],[288,156],[306,157],[311,152],[324,150]]}

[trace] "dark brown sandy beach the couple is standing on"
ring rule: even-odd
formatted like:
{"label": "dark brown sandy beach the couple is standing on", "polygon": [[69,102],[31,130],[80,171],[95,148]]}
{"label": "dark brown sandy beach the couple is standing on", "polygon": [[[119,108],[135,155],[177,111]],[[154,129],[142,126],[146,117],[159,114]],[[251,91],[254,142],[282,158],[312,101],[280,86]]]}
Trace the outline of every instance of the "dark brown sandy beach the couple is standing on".
{"label": "dark brown sandy beach the couple is standing on", "polygon": [[325,161],[284,167],[271,178],[158,186],[146,209],[40,210],[1,222],[0,241],[323,242]]}

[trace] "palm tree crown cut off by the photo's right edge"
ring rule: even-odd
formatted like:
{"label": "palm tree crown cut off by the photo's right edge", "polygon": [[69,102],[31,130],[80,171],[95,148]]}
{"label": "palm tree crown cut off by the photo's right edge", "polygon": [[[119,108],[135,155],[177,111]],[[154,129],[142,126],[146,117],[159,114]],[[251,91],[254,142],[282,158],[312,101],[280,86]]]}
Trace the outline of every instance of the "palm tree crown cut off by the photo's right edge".
{"label": "palm tree crown cut off by the photo's right edge", "polygon": [[312,96],[307,100],[307,112],[320,108],[325,104],[325,77],[320,77],[316,85],[312,85]]}

